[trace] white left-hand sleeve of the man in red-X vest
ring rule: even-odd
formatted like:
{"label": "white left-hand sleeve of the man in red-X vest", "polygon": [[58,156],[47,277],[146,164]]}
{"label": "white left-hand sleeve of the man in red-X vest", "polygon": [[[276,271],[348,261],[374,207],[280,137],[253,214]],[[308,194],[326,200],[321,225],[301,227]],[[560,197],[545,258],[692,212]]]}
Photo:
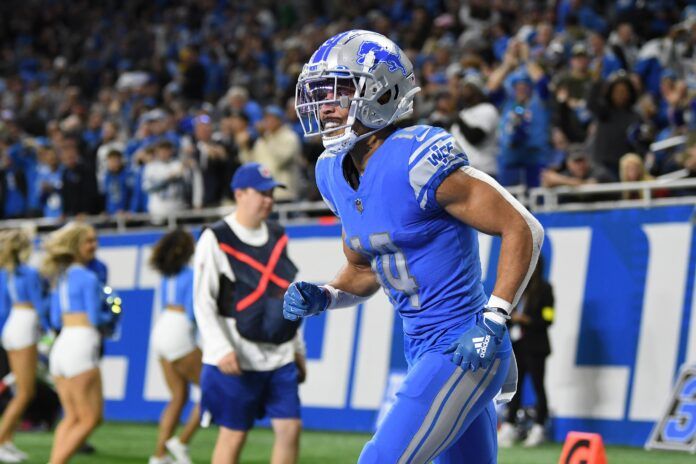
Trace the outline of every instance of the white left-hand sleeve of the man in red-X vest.
{"label": "white left-hand sleeve of the man in red-X vest", "polygon": [[225,274],[232,281],[234,275],[210,229],[205,229],[198,239],[193,269],[193,312],[204,351],[207,352],[205,355],[209,359],[220,359],[234,351],[229,331],[218,315],[220,274]]}

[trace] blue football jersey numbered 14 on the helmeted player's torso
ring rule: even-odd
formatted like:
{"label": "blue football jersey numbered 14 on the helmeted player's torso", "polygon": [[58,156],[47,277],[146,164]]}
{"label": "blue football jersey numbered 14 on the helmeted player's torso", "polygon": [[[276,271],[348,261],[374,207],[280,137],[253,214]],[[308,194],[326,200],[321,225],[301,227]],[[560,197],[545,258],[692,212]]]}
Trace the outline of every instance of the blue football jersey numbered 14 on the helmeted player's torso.
{"label": "blue football jersey numbered 14 on the helmeted player's torso", "polygon": [[454,138],[424,125],[397,130],[369,159],[357,190],[343,174],[346,156],[324,153],[317,184],[348,247],[370,260],[405,334],[429,340],[483,308],[476,231],[435,199],[442,181],[469,165]]}

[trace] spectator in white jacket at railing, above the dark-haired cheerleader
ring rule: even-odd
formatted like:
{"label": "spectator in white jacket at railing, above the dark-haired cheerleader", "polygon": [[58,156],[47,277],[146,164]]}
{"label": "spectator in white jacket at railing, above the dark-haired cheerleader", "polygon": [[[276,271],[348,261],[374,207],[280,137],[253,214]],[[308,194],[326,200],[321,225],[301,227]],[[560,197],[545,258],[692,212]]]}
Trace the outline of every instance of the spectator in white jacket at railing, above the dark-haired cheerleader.
{"label": "spectator in white jacket at railing, above the dark-haired cheerleader", "polygon": [[147,211],[154,223],[161,224],[167,215],[186,208],[187,177],[184,164],[175,157],[174,145],[168,140],[157,143],[142,179],[148,195]]}

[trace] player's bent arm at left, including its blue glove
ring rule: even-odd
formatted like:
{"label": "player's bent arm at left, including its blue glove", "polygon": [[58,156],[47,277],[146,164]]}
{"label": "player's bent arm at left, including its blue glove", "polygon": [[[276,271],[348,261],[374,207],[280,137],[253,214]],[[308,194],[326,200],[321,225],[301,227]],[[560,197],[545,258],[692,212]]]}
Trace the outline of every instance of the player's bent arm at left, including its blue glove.
{"label": "player's bent arm at left, including its blue glove", "polygon": [[349,308],[370,298],[379,289],[379,281],[370,262],[343,242],[346,264],[326,285],[293,282],[285,292],[283,315],[296,321],[327,309]]}

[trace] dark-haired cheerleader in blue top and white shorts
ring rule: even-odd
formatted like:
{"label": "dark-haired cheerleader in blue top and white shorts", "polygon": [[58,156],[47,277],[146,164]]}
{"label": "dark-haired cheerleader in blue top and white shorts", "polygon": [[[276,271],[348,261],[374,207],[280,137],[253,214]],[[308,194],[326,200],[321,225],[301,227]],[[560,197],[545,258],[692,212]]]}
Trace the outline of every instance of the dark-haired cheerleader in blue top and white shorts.
{"label": "dark-haired cheerleader in blue top and white shorts", "polygon": [[201,350],[196,346],[193,316],[193,270],[188,262],[194,252],[193,237],[182,229],[164,235],[155,245],[151,266],[162,274],[160,303],[162,312],[152,331],[152,346],[159,357],[171,400],[162,412],[155,454],[150,464],[172,462],[188,464],[188,443],[198,427],[199,407],[194,407],[179,437],[174,430],[188,400],[190,383],[198,385]]}

